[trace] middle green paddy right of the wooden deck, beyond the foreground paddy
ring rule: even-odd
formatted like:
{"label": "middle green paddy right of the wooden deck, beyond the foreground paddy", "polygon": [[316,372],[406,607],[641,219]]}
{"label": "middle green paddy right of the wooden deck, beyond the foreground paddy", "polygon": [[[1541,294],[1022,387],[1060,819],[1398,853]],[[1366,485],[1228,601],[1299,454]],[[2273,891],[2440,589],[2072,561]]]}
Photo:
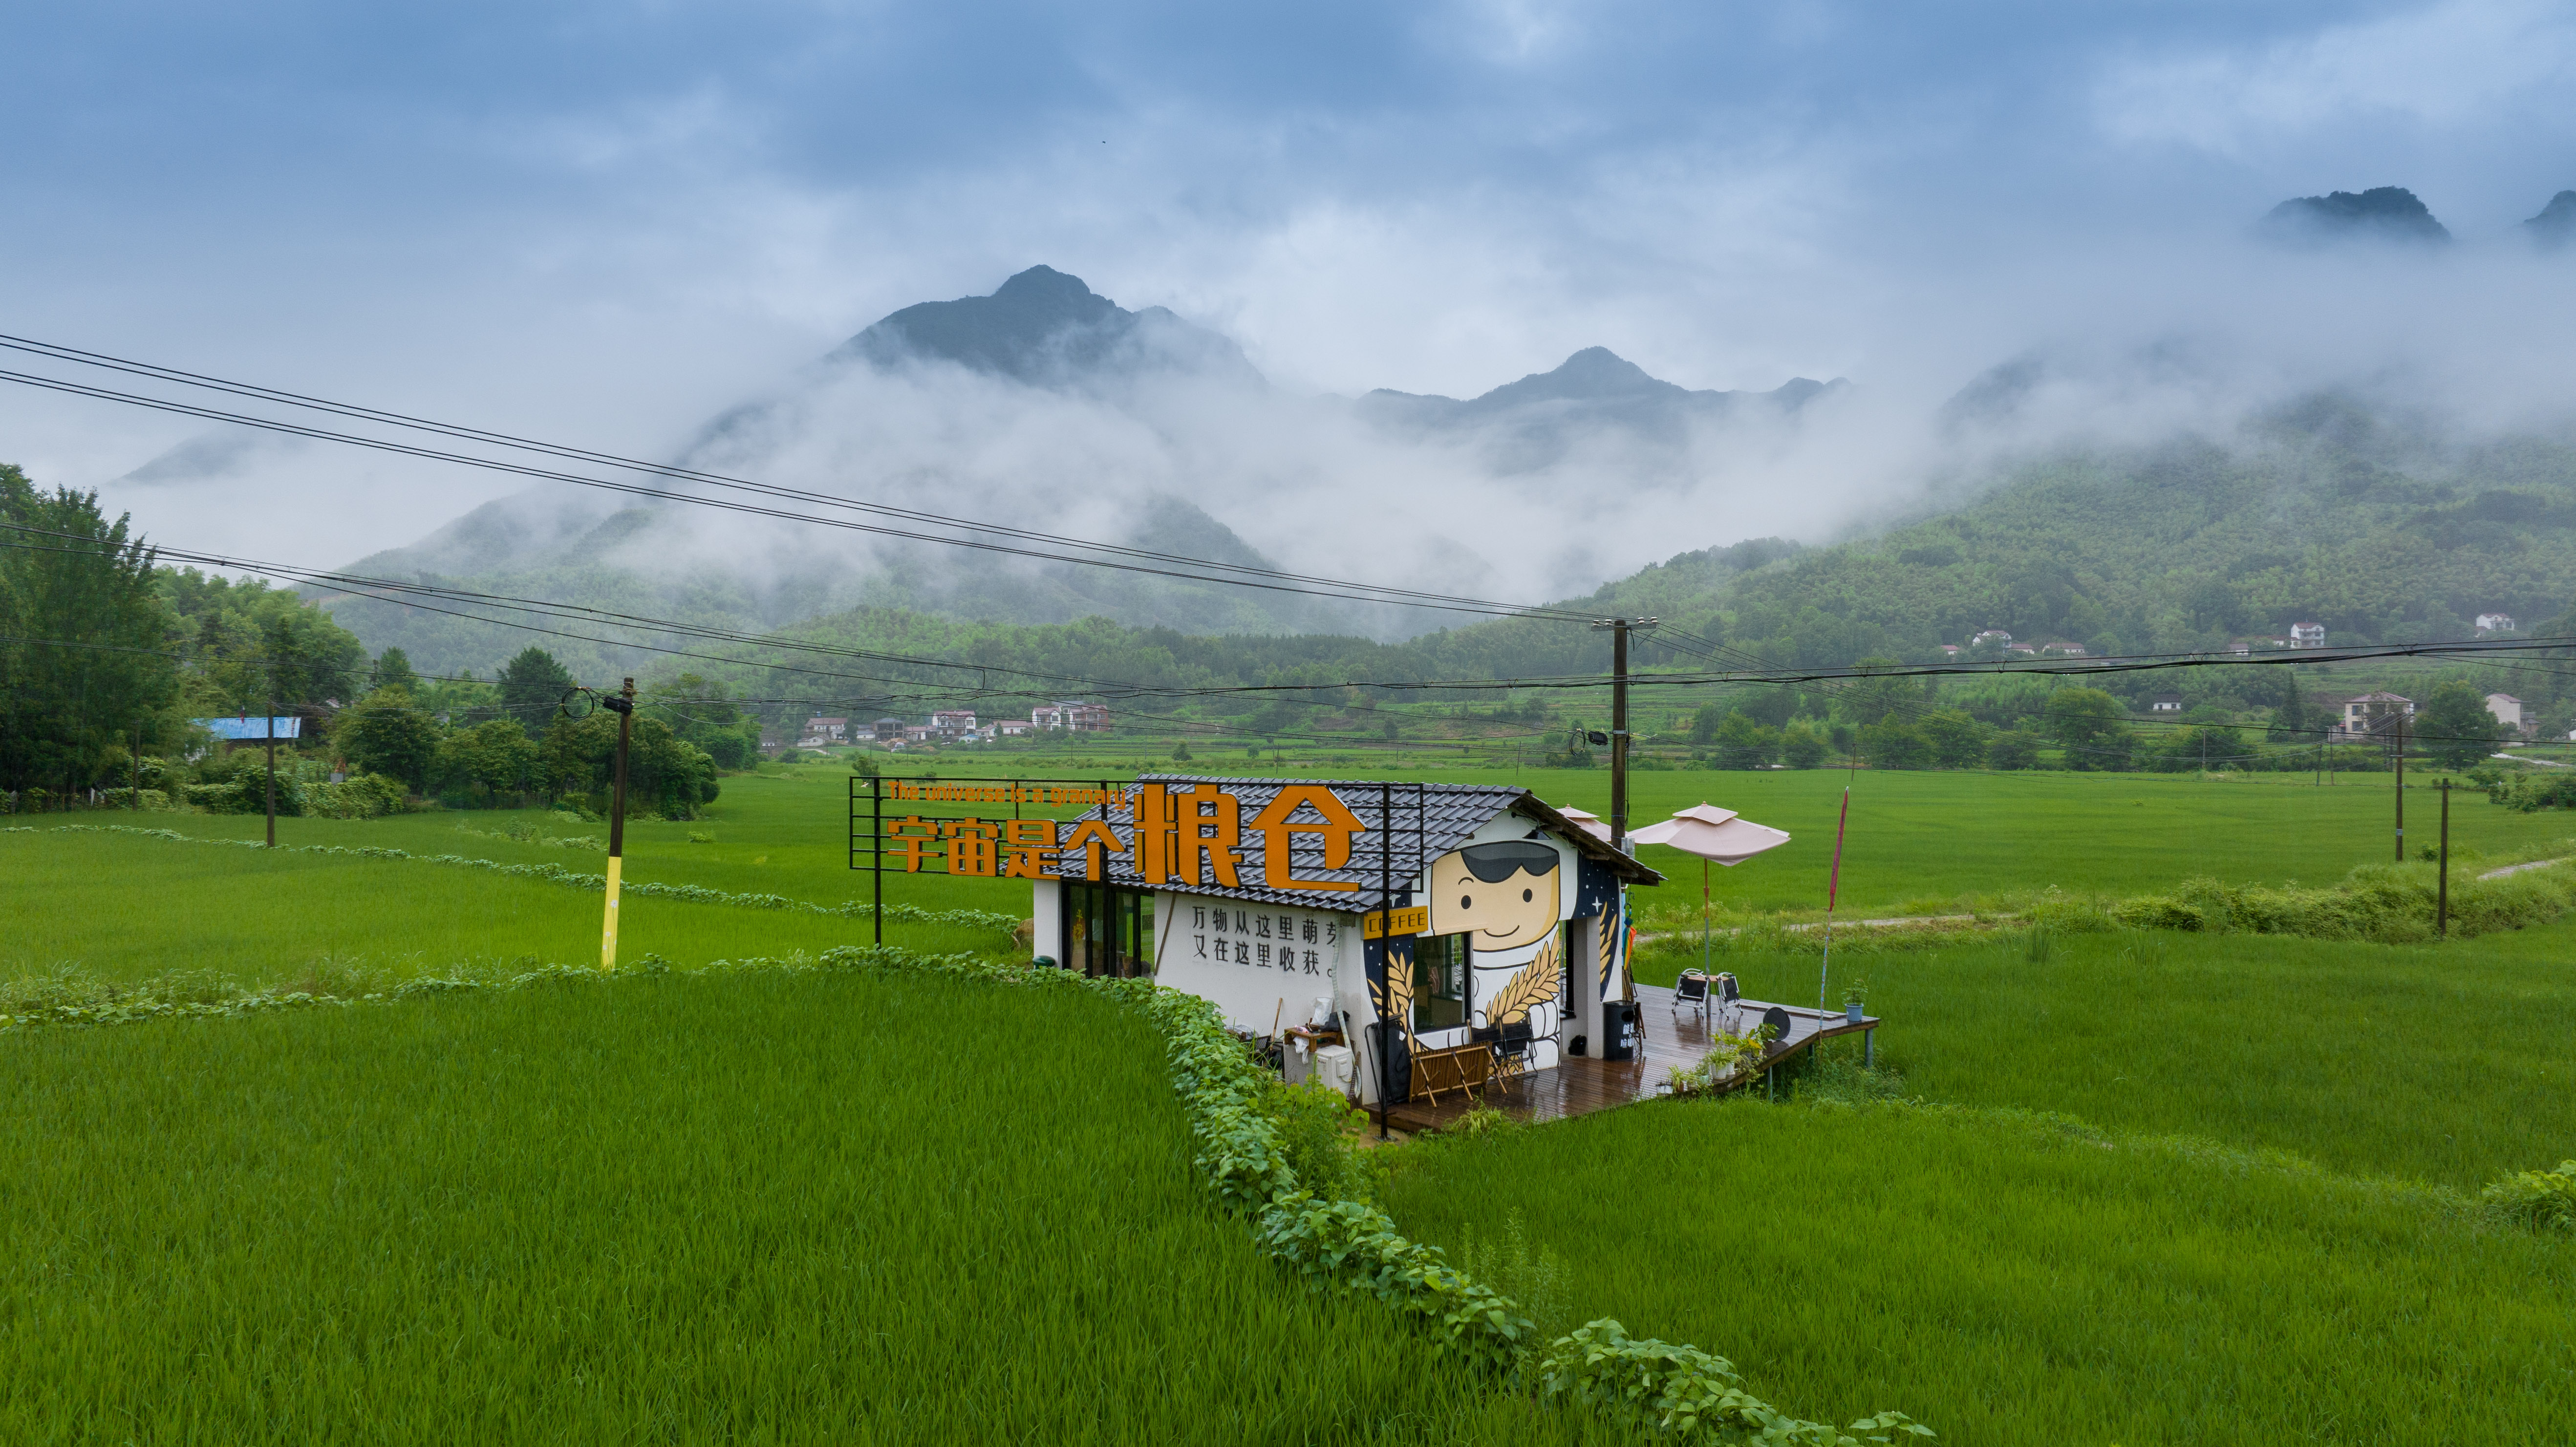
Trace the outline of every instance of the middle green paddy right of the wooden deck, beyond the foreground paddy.
{"label": "middle green paddy right of the wooden deck, beyond the foreground paddy", "polygon": [[[1896,940],[1899,945],[1904,940]],[[1834,953],[1909,1094],[2069,1112],[2473,1190],[2576,1156],[2576,924],[2450,945],[2022,935]],[[1698,966],[1672,942],[1638,978]],[[1754,999],[1816,1002],[1814,953],[1718,953]]]}

